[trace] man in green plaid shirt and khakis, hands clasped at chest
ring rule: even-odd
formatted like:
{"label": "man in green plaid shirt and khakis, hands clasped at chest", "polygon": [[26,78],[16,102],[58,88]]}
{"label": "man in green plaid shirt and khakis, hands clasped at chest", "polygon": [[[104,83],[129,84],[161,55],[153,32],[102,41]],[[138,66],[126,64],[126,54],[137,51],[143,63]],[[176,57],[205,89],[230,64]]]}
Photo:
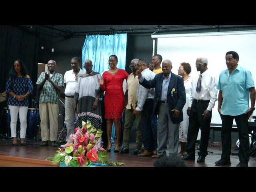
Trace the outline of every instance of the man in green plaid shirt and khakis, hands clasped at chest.
{"label": "man in green plaid shirt and khakis, hands clasped at chest", "polygon": [[[42,72],[36,81],[39,98],[39,114],[42,143],[40,146],[48,146],[50,140],[53,147],[58,146],[58,114],[59,114],[59,92],[64,88],[63,75],[55,71],[56,62],[48,61],[48,72]],[[48,129],[48,119],[50,119],[50,129]],[[50,130],[50,136],[49,136]]]}

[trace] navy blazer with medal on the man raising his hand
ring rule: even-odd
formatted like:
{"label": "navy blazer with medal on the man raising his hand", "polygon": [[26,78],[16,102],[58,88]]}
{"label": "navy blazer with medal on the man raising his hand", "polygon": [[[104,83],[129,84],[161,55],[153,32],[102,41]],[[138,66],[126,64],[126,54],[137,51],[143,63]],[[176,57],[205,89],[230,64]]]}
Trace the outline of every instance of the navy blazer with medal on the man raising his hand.
{"label": "navy blazer with medal on the man raising his hand", "polygon": [[[140,84],[145,88],[155,88],[153,114],[159,114],[159,101],[160,101],[160,95],[162,91],[163,80],[164,80],[164,73],[159,73],[159,74],[156,74],[155,78],[150,81],[144,78],[143,82],[142,83],[140,82]],[[171,91],[174,89],[175,91],[171,93]],[[183,78],[174,73],[172,73],[169,86],[168,86],[167,103],[168,103],[169,114],[170,114],[172,123],[182,122],[183,121],[182,108],[186,103],[186,90],[184,87]],[[175,118],[173,116],[174,111],[172,110],[174,108],[180,111],[180,116],[178,118]]]}

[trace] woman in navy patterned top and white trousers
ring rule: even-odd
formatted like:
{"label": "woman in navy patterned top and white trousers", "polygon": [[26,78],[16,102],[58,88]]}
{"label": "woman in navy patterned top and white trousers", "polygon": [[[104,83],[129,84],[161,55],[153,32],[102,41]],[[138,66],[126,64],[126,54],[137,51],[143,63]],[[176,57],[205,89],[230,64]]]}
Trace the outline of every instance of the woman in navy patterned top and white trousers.
{"label": "woman in navy patterned top and white trousers", "polygon": [[18,145],[16,136],[18,114],[20,118],[20,143],[22,146],[26,145],[24,138],[27,129],[28,96],[32,91],[32,81],[26,72],[24,62],[20,59],[15,60],[6,82],[6,93],[10,95],[7,104],[11,115],[10,127],[14,146]]}

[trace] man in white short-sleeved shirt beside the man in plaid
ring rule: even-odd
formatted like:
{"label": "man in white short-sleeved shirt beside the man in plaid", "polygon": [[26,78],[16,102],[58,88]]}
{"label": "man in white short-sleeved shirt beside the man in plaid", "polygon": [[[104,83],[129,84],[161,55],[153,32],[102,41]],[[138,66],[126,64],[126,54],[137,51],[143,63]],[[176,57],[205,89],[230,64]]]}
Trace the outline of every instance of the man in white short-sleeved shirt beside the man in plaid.
{"label": "man in white short-sleeved shirt beside the man in plaid", "polygon": [[[81,60],[78,57],[71,59],[72,70],[66,71],[64,74],[64,86],[65,86],[65,125],[67,128],[66,142],[70,142],[70,134],[74,134],[74,120],[77,114],[74,111],[74,94],[78,78],[85,72],[80,68]],[[60,147],[65,148],[66,144]]]}

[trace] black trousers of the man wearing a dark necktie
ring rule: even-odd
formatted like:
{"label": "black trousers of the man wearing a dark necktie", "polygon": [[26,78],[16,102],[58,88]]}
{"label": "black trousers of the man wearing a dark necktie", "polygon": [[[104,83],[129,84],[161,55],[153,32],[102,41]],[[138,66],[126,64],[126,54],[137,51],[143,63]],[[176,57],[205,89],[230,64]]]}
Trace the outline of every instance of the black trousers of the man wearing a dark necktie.
{"label": "black trousers of the man wearing a dark necktie", "polygon": [[210,135],[210,125],[212,120],[212,112],[210,112],[209,118],[204,119],[202,114],[207,109],[209,100],[197,102],[193,100],[191,106],[190,116],[188,118],[188,142],[186,144],[186,152],[189,155],[196,153],[196,139],[199,128],[201,128],[201,144],[198,155],[206,157],[208,155],[207,148]]}

